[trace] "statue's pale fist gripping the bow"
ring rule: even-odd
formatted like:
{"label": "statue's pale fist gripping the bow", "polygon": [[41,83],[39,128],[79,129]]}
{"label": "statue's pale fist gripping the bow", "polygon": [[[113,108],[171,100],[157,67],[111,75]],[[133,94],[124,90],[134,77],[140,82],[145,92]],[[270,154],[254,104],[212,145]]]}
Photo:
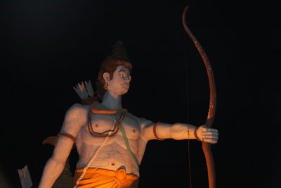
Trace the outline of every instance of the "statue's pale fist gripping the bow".
{"label": "statue's pale fist gripping the bow", "polygon": [[202,125],[197,130],[197,136],[204,142],[216,144],[218,142],[218,130]]}

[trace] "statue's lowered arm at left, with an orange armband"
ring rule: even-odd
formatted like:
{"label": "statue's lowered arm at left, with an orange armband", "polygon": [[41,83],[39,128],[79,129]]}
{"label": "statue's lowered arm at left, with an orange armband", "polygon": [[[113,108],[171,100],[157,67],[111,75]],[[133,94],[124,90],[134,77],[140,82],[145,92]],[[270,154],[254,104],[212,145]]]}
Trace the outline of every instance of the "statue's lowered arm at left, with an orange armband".
{"label": "statue's lowered arm at left, with an orange armband", "polygon": [[[71,134],[77,137],[81,125],[86,123],[86,108],[80,104],[74,104],[65,114],[65,120],[61,133]],[[43,175],[41,177],[39,188],[51,188],[63,172],[65,163],[73,146],[73,141],[69,137],[58,137],[58,142],[55,144],[53,155],[48,159]]]}

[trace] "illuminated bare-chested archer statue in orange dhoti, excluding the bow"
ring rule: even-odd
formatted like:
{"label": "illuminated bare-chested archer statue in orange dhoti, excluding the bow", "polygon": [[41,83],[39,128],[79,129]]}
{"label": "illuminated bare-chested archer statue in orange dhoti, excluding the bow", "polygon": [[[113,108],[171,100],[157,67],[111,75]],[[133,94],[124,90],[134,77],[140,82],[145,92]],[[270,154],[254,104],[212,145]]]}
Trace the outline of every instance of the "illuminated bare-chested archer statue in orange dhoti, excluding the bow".
{"label": "illuminated bare-chested archer statue in orange dhoti, excluding the bow", "polygon": [[[152,139],[199,139],[214,144],[218,131],[206,126],[152,123],[122,107],[122,95],[131,81],[131,61],[121,41],[101,64],[93,94],[91,83],[75,88],[84,104],[65,114],[53,156],[48,160],[39,188],[51,188],[62,173],[75,143],[79,153],[74,187],[138,187],[145,146]],[[89,96],[89,97],[88,97]],[[100,103],[98,102],[100,101]]]}

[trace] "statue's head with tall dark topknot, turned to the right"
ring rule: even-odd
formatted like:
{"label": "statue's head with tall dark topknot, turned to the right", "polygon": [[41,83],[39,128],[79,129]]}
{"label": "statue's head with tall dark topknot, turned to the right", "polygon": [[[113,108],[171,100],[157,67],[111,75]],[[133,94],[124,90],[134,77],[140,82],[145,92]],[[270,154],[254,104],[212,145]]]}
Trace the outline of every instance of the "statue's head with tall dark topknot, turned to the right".
{"label": "statue's head with tall dark topknot, turned to the right", "polygon": [[[100,71],[98,72],[96,94],[100,99],[103,99],[103,95],[107,89],[117,89],[117,82],[120,82],[119,84],[124,82],[124,93],[126,93],[129,89],[129,82],[131,81],[130,73],[132,65],[126,54],[123,42],[118,41],[112,48],[112,54],[107,56],[103,63],[101,63]],[[112,80],[113,78],[115,79]]]}

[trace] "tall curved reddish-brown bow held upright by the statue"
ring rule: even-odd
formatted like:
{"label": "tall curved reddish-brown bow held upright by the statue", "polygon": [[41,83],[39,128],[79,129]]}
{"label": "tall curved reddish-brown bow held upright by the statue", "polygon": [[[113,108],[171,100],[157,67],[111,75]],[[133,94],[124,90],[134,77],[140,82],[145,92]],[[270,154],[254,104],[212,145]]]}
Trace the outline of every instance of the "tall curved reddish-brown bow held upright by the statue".
{"label": "tall curved reddish-brown bow held upright by the statue", "polygon": [[[211,69],[211,63],[205,53],[204,49],[202,48],[201,44],[197,41],[197,39],[192,35],[192,32],[188,28],[188,25],[185,23],[185,15],[188,11],[189,6],[185,6],[182,15],[182,23],[185,32],[189,35],[192,39],[192,42],[195,44],[197,51],[199,52],[202,60],[204,61],[205,68],[207,69],[208,79],[209,79],[209,90],[210,90],[210,99],[209,99],[209,112],[207,116],[207,120],[205,125],[211,127],[214,120],[214,115],[216,113],[216,84],[214,80],[214,73]],[[202,142],[202,148],[204,151],[204,156],[206,158],[207,163],[207,170],[208,170],[208,179],[209,179],[209,188],[216,187],[216,173],[215,173],[215,165],[214,165],[214,158],[211,154],[211,144],[207,142]]]}

